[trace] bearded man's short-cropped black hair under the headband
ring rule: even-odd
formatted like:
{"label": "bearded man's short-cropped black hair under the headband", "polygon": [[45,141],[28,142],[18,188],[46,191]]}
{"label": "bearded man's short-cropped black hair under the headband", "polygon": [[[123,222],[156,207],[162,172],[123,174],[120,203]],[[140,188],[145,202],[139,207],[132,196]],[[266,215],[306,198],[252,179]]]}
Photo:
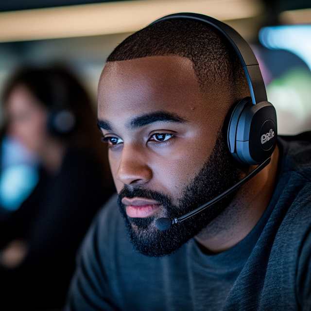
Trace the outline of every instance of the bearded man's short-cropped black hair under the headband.
{"label": "bearded man's short-cropped black hair under the headband", "polygon": [[231,43],[213,26],[193,19],[149,25],[121,42],[107,62],[161,55],[189,58],[204,94],[219,86],[236,100],[249,95],[242,64]]}

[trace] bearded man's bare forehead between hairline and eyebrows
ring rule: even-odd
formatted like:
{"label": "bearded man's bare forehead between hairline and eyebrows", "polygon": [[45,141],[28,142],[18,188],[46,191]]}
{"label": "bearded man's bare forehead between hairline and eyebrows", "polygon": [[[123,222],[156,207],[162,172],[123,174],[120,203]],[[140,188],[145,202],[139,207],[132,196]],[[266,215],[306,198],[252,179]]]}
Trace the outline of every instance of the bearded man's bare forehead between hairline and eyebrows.
{"label": "bearded man's bare forehead between hairline and eyebrows", "polygon": [[107,63],[99,83],[99,120],[117,123],[154,111],[188,120],[210,114],[208,105],[186,57],[150,56]]}

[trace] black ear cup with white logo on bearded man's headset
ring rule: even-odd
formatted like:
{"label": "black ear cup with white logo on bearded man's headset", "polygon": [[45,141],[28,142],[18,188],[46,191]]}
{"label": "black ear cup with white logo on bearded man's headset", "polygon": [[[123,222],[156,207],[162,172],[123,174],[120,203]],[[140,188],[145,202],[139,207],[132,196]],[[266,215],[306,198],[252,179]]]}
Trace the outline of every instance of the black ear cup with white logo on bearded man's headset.
{"label": "black ear cup with white logo on bearded man's headset", "polygon": [[276,110],[269,102],[252,104],[244,98],[230,117],[227,140],[230,153],[242,164],[257,165],[272,155],[276,146]]}

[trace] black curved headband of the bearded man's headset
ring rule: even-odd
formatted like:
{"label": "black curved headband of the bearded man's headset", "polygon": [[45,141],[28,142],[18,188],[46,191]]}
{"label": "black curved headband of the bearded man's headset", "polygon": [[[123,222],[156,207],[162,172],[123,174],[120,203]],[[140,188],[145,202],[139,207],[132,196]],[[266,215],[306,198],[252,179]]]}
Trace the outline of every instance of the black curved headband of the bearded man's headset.
{"label": "black curved headband of the bearded man's headset", "polygon": [[266,89],[263,83],[258,61],[248,43],[242,38],[241,35],[239,35],[239,33],[237,33],[233,28],[231,28],[227,24],[215,18],[196,13],[171,14],[155,20],[150,25],[155,24],[162,20],[177,19],[177,18],[179,19],[189,18],[200,20],[215,27],[222,34],[224,34],[225,37],[229,40],[229,42],[232,44],[234,50],[237,52],[240,58],[240,61],[242,63],[247,78],[248,86],[251,92],[252,103],[258,104],[260,102],[267,101]]}

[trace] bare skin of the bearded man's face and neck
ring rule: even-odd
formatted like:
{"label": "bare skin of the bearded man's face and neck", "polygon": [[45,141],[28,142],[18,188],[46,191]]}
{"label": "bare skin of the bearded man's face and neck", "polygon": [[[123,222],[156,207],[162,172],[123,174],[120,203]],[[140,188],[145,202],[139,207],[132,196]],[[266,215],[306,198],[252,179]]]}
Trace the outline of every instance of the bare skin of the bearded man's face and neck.
{"label": "bare skin of the bearded man's face and neck", "polygon": [[[178,204],[211,154],[229,108],[239,99],[224,87],[210,89],[203,95],[192,63],[184,57],[152,56],[105,65],[98,119],[118,192],[124,185],[139,185],[163,192]],[[148,116],[152,121],[144,121]],[[278,155],[276,148],[271,163],[195,237],[199,243],[220,253],[247,236],[271,200]],[[241,178],[254,168],[241,172]],[[124,198],[122,203],[129,217],[161,217],[163,212],[161,204],[145,198]]]}

